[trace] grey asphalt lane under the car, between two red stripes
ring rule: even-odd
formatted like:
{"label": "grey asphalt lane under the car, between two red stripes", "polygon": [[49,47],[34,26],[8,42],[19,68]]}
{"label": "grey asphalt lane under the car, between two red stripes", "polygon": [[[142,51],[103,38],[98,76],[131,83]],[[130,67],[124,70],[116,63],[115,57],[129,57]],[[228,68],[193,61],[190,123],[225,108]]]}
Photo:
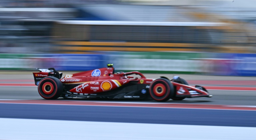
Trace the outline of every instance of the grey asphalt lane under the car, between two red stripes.
{"label": "grey asphalt lane under the car, between two red stripes", "polygon": [[[45,100],[37,91],[37,87],[0,87],[0,99],[2,100]],[[205,104],[205,105],[256,105],[256,91],[225,91],[225,90],[209,90],[212,98],[187,98],[183,101],[169,100],[164,104]],[[140,103],[158,103],[154,100],[95,100],[95,99],[63,99],[59,98],[56,101],[83,101],[83,102],[140,102]]]}

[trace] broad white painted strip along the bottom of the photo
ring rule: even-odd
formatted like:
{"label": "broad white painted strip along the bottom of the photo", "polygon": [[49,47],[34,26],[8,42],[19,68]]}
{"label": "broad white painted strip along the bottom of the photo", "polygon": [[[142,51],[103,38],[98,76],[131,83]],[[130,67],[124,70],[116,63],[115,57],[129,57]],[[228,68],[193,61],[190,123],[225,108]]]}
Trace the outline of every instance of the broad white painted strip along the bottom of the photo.
{"label": "broad white painted strip along the bottom of the photo", "polygon": [[255,127],[0,118],[2,140],[255,140]]}

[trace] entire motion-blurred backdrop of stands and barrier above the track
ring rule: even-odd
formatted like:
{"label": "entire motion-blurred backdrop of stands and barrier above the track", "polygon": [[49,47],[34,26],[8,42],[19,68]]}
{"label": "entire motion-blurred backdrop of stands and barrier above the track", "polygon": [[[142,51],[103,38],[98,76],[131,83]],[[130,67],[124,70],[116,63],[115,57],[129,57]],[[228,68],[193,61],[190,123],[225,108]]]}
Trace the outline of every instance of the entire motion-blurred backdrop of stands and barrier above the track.
{"label": "entire motion-blurred backdrop of stands and barrier above the track", "polygon": [[0,0],[0,70],[256,76],[256,0]]}

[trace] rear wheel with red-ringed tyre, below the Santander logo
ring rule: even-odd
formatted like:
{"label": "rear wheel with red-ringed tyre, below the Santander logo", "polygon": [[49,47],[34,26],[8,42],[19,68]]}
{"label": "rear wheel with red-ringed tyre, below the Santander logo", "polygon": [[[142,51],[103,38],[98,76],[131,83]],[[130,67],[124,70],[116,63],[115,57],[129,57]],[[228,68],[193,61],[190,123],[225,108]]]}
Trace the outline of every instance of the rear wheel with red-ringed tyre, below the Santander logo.
{"label": "rear wheel with red-ringed tyre, below the Santander logo", "polygon": [[44,99],[57,99],[61,96],[62,92],[63,86],[58,78],[45,77],[38,84],[38,93]]}

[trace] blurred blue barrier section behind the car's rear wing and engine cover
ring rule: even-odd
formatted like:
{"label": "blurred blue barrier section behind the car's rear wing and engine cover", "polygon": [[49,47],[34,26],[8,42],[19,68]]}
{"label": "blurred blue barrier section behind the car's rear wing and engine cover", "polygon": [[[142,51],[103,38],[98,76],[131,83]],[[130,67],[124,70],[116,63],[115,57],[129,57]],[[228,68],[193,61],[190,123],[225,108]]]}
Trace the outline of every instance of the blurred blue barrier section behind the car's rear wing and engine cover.
{"label": "blurred blue barrier section behind the car's rear wing and engine cover", "polygon": [[24,62],[25,70],[54,67],[58,71],[87,71],[106,67],[103,54],[27,54],[18,59]]}

